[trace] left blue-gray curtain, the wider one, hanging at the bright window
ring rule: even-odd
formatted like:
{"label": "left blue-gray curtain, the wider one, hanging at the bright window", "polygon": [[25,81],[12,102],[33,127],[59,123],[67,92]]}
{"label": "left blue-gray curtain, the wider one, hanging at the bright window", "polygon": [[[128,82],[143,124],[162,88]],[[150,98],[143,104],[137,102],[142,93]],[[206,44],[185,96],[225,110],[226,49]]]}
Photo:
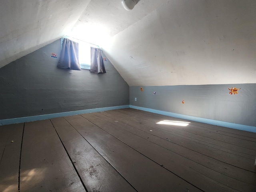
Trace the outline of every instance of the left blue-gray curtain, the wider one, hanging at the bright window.
{"label": "left blue-gray curtain, the wider one, hanging at the bright window", "polygon": [[81,70],[78,60],[78,43],[64,38],[57,67]]}

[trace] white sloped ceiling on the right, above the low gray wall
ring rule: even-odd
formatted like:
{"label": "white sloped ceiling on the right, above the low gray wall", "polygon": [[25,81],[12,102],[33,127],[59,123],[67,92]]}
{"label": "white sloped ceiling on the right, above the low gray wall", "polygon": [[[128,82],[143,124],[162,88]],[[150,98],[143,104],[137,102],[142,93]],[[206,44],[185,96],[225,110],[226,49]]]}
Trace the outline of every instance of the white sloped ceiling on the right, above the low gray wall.
{"label": "white sloped ceiling on the right, above the low gray wall", "polygon": [[255,2],[171,0],[102,48],[130,86],[256,83]]}

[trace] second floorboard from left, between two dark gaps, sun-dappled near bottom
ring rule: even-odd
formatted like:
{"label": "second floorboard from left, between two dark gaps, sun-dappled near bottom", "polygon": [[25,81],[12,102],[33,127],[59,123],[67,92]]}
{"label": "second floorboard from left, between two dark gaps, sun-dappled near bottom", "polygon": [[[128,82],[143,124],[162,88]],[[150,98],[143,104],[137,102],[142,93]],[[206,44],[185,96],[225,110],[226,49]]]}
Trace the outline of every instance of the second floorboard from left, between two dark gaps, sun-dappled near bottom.
{"label": "second floorboard from left, between two dark gaps, sun-dappled near bottom", "polygon": [[20,192],[84,192],[50,120],[25,123]]}

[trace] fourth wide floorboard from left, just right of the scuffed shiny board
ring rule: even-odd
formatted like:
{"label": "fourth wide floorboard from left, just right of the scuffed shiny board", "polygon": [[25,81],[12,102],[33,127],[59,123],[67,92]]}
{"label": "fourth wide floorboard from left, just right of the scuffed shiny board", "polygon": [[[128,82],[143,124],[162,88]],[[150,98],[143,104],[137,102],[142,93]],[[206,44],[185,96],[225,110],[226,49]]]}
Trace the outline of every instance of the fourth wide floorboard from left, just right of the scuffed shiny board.
{"label": "fourth wide floorboard from left, just right of the scuffed shiny board", "polygon": [[[90,116],[92,114],[83,114]],[[201,191],[82,116],[68,122],[138,191]]]}

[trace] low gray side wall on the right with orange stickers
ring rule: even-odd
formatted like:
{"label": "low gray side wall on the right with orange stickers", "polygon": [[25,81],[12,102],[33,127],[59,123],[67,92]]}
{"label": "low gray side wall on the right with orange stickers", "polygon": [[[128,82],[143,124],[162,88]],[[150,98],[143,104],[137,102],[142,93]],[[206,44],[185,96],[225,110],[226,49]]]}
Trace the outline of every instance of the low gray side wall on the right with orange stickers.
{"label": "low gray side wall on the right with orange stickers", "polygon": [[[228,88],[241,88],[230,95]],[[130,87],[130,105],[256,126],[256,84]],[[153,94],[153,92],[156,94]],[[134,98],[137,101],[134,101]],[[184,104],[182,100],[184,99]]]}

